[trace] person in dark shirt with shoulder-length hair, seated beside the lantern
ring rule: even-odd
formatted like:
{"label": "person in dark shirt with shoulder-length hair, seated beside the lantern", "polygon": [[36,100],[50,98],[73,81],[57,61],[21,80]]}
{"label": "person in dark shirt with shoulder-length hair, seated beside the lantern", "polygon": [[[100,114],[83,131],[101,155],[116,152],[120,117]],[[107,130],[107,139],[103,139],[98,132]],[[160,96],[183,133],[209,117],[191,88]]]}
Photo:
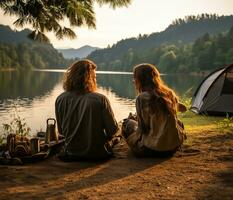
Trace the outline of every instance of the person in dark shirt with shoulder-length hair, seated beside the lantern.
{"label": "person in dark shirt with shoulder-length hair, seated beside the lantern", "polygon": [[55,103],[58,132],[65,137],[59,156],[64,161],[111,156],[107,144],[118,125],[109,100],[96,92],[95,70],[95,63],[80,60],[64,75],[65,92]]}

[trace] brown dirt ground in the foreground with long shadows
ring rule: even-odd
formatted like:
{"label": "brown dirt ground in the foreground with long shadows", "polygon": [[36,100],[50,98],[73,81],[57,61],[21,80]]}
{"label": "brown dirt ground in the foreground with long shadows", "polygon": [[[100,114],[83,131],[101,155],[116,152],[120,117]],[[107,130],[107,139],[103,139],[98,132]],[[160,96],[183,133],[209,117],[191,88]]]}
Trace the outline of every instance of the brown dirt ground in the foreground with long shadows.
{"label": "brown dirt ground in the foreground with long shadows", "polygon": [[233,199],[233,133],[189,136],[172,158],[135,158],[122,142],[105,162],[56,157],[0,166],[0,199]]}

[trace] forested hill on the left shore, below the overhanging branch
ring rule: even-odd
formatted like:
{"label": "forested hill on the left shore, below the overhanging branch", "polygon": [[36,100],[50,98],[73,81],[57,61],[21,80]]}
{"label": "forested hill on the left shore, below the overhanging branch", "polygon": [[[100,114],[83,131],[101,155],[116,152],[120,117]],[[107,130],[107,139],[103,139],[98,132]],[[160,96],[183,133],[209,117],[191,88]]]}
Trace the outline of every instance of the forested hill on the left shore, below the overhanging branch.
{"label": "forested hill on the left shore, below the overhanging branch", "polygon": [[64,59],[51,44],[28,39],[31,31],[13,31],[0,25],[0,69],[64,68]]}

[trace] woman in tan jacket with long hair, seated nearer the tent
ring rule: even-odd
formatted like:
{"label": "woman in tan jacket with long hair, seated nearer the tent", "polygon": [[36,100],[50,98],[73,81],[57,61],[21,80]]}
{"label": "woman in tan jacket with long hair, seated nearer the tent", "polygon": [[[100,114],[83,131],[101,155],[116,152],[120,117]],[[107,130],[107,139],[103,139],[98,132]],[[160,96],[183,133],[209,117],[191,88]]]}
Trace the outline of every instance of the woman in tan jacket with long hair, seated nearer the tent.
{"label": "woman in tan jacket with long hair, seated nearer the tent", "polygon": [[177,111],[186,111],[152,64],[134,67],[136,116],[124,120],[122,134],[136,156],[171,156],[182,145],[184,126]]}

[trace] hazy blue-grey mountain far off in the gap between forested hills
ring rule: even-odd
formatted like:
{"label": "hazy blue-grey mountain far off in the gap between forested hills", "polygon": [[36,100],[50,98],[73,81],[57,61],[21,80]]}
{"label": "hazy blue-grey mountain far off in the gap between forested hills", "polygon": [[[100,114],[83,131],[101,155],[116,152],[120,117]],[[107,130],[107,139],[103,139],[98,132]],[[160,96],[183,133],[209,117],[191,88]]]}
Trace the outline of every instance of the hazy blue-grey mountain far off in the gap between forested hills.
{"label": "hazy blue-grey mountain far off in the gap between forested hills", "polygon": [[62,53],[65,58],[85,58],[93,51],[99,49],[98,47],[83,46],[79,49],[57,49],[58,52]]}

